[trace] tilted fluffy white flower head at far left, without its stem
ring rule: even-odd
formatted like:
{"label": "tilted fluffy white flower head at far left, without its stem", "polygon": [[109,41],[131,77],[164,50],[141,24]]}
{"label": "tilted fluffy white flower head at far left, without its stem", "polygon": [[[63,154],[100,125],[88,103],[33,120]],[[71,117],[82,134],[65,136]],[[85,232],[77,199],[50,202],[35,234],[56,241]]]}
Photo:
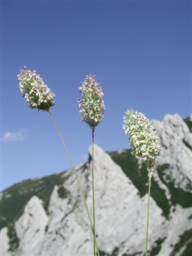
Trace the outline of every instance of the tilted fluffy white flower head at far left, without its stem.
{"label": "tilted fluffy white flower head at far left, without its stem", "polygon": [[50,111],[54,105],[55,94],[47,87],[35,71],[23,67],[18,74],[20,92],[25,97],[30,108]]}

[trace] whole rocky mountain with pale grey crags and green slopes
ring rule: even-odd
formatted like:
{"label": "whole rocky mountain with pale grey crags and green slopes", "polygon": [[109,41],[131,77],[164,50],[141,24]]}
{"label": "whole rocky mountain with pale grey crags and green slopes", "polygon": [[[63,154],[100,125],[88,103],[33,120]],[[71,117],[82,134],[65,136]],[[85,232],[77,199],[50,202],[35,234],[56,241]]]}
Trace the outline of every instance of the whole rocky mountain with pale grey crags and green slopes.
{"label": "whole rocky mountain with pale grey crags and green slopes", "polygon": [[[153,173],[150,256],[192,255],[192,116],[153,121],[161,155]],[[91,150],[77,167],[91,209]],[[147,170],[130,150],[95,146],[97,241],[101,256],[145,252]],[[93,238],[71,170],[1,192],[2,256],[93,255]]]}

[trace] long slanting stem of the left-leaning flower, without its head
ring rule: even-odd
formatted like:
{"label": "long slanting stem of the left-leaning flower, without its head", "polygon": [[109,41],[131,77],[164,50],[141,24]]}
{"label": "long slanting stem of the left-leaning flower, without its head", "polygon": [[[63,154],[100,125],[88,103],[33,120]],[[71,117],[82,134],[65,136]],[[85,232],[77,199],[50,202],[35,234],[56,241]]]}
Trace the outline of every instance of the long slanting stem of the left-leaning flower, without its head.
{"label": "long slanting stem of the left-leaning flower, without its head", "polygon": [[[57,122],[56,122],[56,120],[55,120],[53,114],[51,113],[51,111],[49,111],[48,114],[49,114],[49,116],[50,116],[50,118],[51,118],[51,120],[52,120],[53,127],[55,128],[55,131],[58,133],[58,136],[59,136],[59,138],[60,138],[60,140],[61,140],[62,146],[64,146],[64,150],[65,150],[65,152],[66,152],[66,156],[69,158],[69,162],[70,162],[70,164],[71,164],[71,166],[72,166],[72,172],[73,172],[73,174],[74,174],[74,176],[75,176],[75,178],[76,178],[76,180],[77,180],[77,183],[78,183],[78,185],[79,185],[79,187],[80,187],[80,193],[81,193],[81,196],[82,196],[82,201],[83,201],[83,203],[84,203],[85,210],[86,210],[86,212],[87,212],[87,214],[88,214],[88,219],[89,219],[89,223],[90,223],[90,227],[91,227],[91,233],[93,233],[93,223],[92,223],[92,221],[91,221],[91,214],[90,214],[90,211],[88,210],[88,204],[86,203],[85,193],[83,192],[82,185],[81,185],[81,182],[80,182],[80,178],[79,178],[79,176],[77,175],[77,170],[76,170],[75,167],[74,167],[75,165],[74,165],[72,156],[71,156],[71,154],[70,154],[70,152],[69,152],[68,147],[66,146],[66,143],[65,143],[65,141],[64,141],[64,137],[63,137],[63,135],[61,134],[61,130],[58,128],[58,124],[57,124]],[[99,247],[98,247],[98,245],[97,245],[96,238],[94,239],[94,241],[95,241],[95,244],[96,244],[96,251],[97,251],[97,254],[98,254],[98,256],[100,256],[100,255],[99,255]]]}

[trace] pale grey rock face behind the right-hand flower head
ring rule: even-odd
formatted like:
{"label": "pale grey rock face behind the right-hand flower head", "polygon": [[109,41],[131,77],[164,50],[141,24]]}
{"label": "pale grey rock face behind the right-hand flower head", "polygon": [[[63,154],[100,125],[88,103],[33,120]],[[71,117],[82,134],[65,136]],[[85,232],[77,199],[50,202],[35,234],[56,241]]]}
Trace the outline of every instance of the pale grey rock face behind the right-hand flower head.
{"label": "pale grey rock face behind the right-hand flower head", "polygon": [[166,115],[163,121],[154,121],[161,139],[161,155],[158,165],[169,164],[169,175],[175,187],[191,190],[192,134],[183,119]]}

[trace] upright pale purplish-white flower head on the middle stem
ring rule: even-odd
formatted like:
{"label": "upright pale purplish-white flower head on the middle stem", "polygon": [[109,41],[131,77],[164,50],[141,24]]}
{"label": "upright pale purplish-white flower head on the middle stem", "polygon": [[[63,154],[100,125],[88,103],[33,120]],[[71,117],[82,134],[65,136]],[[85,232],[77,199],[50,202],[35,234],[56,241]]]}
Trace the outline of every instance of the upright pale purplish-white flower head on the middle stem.
{"label": "upright pale purplish-white flower head on the middle stem", "polygon": [[82,99],[78,100],[82,121],[94,129],[104,118],[103,91],[94,75],[87,75],[79,90],[82,93]]}

